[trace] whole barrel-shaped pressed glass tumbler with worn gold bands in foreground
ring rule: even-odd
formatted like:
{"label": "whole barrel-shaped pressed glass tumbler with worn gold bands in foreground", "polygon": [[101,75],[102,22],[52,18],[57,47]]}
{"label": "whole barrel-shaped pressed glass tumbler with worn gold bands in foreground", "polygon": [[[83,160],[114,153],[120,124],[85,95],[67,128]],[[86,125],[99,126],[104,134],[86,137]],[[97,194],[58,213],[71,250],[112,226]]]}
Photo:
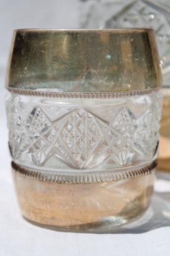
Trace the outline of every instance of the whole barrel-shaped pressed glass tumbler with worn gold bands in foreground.
{"label": "whole barrel-shaped pressed glass tumbler with worn gold bands in foreground", "polygon": [[151,29],[15,31],[6,113],[23,216],[94,230],[144,213],[154,185],[161,84]]}

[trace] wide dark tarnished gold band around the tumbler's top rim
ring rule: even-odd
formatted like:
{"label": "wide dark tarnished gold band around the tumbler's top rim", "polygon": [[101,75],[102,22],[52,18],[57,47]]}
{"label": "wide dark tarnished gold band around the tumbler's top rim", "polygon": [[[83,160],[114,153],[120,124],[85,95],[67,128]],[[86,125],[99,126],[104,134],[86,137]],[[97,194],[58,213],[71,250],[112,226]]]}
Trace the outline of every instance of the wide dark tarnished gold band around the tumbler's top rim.
{"label": "wide dark tarnished gold band around the tumbler's top rim", "polygon": [[162,85],[152,29],[16,30],[6,87],[120,92]]}

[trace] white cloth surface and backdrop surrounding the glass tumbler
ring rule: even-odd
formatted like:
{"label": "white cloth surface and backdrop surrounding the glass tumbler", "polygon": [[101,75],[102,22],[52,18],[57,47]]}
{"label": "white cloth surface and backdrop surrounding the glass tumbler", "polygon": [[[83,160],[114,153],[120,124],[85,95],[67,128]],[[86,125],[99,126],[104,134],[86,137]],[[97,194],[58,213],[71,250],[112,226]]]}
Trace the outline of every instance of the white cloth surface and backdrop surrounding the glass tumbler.
{"label": "white cloth surface and backdrop surrounding the glass tumbler", "polygon": [[78,0],[0,1],[0,256],[170,256],[170,180],[158,179],[151,207],[137,223],[105,234],[34,226],[19,211],[10,172],[4,68],[16,28],[79,27]]}

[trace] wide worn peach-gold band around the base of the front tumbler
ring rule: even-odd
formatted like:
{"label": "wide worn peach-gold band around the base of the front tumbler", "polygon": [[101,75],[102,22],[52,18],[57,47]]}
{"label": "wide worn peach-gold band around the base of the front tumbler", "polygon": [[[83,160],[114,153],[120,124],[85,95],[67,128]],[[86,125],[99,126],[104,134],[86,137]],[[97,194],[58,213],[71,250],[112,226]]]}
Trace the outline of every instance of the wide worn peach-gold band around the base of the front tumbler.
{"label": "wide worn peach-gold band around the base of the front tumbler", "polygon": [[[117,226],[146,211],[154,185],[154,165],[139,175],[101,182],[61,182],[25,171],[12,163],[22,214],[57,229],[101,229]],[[144,171],[145,170],[145,171]],[[43,178],[42,178],[43,176]],[[114,221],[115,219],[115,221]]]}

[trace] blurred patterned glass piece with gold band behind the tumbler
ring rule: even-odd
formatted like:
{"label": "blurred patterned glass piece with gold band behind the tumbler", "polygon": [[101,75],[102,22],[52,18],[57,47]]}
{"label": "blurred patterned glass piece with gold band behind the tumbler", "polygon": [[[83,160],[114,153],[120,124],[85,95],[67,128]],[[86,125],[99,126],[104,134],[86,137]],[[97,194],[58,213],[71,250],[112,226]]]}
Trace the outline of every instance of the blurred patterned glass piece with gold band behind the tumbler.
{"label": "blurred patterned glass piece with gold band behind the tumbler", "polygon": [[89,0],[82,27],[139,28],[155,31],[163,72],[164,95],[158,169],[170,171],[170,0]]}

